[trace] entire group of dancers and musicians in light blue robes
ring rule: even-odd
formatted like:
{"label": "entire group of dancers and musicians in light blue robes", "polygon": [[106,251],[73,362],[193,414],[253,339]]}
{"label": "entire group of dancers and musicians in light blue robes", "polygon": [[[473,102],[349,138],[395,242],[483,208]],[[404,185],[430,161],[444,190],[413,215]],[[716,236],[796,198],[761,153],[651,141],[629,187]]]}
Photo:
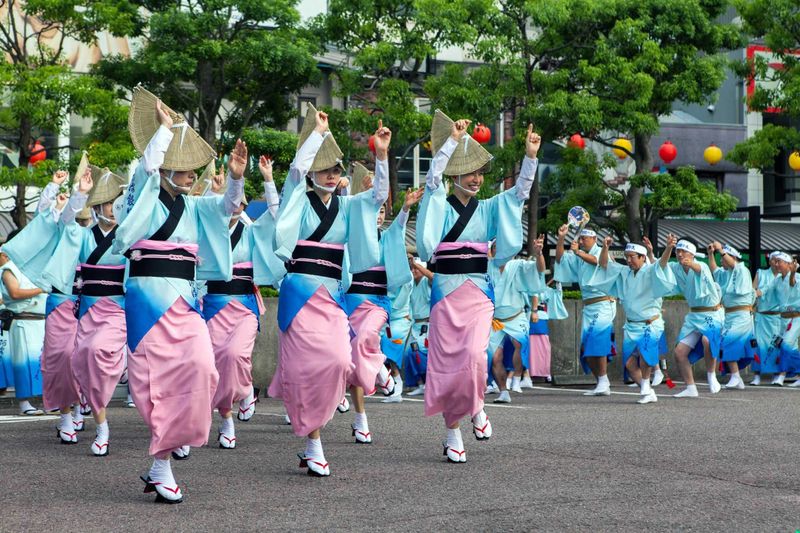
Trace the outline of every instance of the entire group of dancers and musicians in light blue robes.
{"label": "entire group of dancers and musicians in light blue robes", "polygon": [[[18,398],[43,392],[45,409],[60,412],[64,444],[78,441],[87,404],[97,456],[110,451],[107,406],[127,378],[150,430],[144,490],[177,503],[183,494],[171,459],[208,442],[214,410],[219,447],[235,448],[234,412],[247,421],[255,411],[259,286],[280,288],[278,365],[268,392],[306,439],[300,466],[319,477],[331,473],[321,431],[334,413],[352,408],[355,442],[370,443],[364,397],[380,390],[386,401],[401,401],[406,385],[423,396],[427,416],[443,416],[447,461],[466,462],[463,419],[477,440],[493,434],[485,394],[509,402],[508,388],[549,377],[547,324],[567,316],[561,283],[577,283],[584,298],[581,362],[597,378],[588,395],[610,394],[620,301],[625,368],[641,387],[639,403],[657,401],[650,377],[666,352],[662,299],[676,293],[690,306],[675,348],[687,383],[677,396],[698,395],[691,365],[701,358],[712,393],[720,389],[717,361],[731,374],[728,388],[744,387],[740,371],[753,359],[780,383],[800,368],[800,328],[791,327],[800,316],[796,263],[787,254],[771,255],[751,283],[741,255],[719,243],[709,246],[706,265],[690,239],[670,236],[660,258],[645,239],[626,246],[623,266],[610,259],[611,239],[600,246],[589,229],[566,249],[564,226],[547,280],[543,236],[527,259],[516,258],[541,138],[529,126],[516,185],[478,200],[492,156],[467,134],[469,124],[436,112],[425,186],[407,191],[382,230],[391,130],[379,122],[374,172],[357,165],[351,176],[361,192],[350,194],[356,184],[343,177],[328,116],[309,106],[280,195],[272,161],[258,159],[268,209],[251,221],[246,144],[236,142],[227,174],[217,174],[213,149],[185,119],[135,88],[129,129],[141,158],[132,178],[84,160],[67,194],[67,175],[57,172],[36,216],[0,250],[0,321],[15,363],[0,377],[13,374]],[[416,204],[416,249],[409,249]],[[27,401],[21,409],[35,410]]]}

